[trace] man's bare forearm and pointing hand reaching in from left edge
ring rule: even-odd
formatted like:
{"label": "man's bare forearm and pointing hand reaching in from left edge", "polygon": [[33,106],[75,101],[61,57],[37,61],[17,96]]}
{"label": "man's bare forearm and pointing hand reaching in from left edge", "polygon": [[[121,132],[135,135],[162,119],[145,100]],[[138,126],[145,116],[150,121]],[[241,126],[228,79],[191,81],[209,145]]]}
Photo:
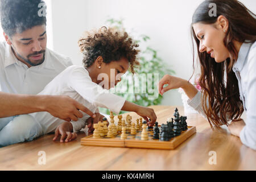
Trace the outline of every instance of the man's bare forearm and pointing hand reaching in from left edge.
{"label": "man's bare forearm and pointing hand reaching in from left edge", "polygon": [[77,121],[82,117],[79,110],[95,117],[92,111],[68,96],[34,96],[0,92],[0,118],[47,111],[54,117],[65,121],[71,121],[71,119]]}

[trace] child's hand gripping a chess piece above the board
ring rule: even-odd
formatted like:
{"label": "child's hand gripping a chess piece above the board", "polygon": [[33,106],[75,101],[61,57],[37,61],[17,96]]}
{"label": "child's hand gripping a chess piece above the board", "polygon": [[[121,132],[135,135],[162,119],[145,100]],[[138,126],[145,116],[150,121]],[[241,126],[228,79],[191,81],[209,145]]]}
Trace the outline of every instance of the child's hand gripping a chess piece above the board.
{"label": "child's hand gripping a chess piece above the board", "polygon": [[[147,121],[148,126],[153,126],[155,124],[156,115],[154,109],[139,106],[139,109],[137,110],[136,113]],[[150,121],[148,121],[148,118],[150,118]]]}

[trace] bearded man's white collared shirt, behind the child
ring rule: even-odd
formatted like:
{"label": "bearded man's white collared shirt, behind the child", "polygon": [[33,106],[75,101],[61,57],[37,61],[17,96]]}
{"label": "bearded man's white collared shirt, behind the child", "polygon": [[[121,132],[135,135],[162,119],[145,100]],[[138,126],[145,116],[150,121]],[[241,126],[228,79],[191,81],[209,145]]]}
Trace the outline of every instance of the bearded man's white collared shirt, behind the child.
{"label": "bearded man's white collared shirt, behind the child", "polygon": [[52,79],[72,65],[69,57],[46,49],[44,62],[28,68],[14,55],[11,46],[0,43],[0,91],[14,94],[38,94]]}

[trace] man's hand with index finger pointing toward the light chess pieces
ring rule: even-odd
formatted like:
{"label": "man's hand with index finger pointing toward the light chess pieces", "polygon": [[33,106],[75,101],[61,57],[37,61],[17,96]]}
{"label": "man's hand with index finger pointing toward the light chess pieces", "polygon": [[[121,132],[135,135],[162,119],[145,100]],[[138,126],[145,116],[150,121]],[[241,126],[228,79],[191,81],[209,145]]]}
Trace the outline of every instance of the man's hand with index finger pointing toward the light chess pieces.
{"label": "man's hand with index finger pointing toward the light chess pieces", "polygon": [[43,101],[43,105],[44,110],[48,111],[48,113],[65,121],[77,121],[78,118],[82,118],[81,111],[92,118],[96,117],[92,111],[69,96],[47,96]]}

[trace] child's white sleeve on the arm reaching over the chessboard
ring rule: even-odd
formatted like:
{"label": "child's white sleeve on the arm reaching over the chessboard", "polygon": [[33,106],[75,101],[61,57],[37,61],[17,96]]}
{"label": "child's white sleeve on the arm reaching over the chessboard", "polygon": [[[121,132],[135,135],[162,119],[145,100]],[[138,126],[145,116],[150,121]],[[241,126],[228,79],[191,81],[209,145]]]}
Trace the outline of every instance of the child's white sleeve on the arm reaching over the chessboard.
{"label": "child's white sleeve on the arm reaching over the chessboard", "polygon": [[95,107],[105,107],[115,114],[119,114],[125,104],[124,98],[109,93],[109,90],[92,82],[88,72],[82,67],[72,69],[68,85]]}

